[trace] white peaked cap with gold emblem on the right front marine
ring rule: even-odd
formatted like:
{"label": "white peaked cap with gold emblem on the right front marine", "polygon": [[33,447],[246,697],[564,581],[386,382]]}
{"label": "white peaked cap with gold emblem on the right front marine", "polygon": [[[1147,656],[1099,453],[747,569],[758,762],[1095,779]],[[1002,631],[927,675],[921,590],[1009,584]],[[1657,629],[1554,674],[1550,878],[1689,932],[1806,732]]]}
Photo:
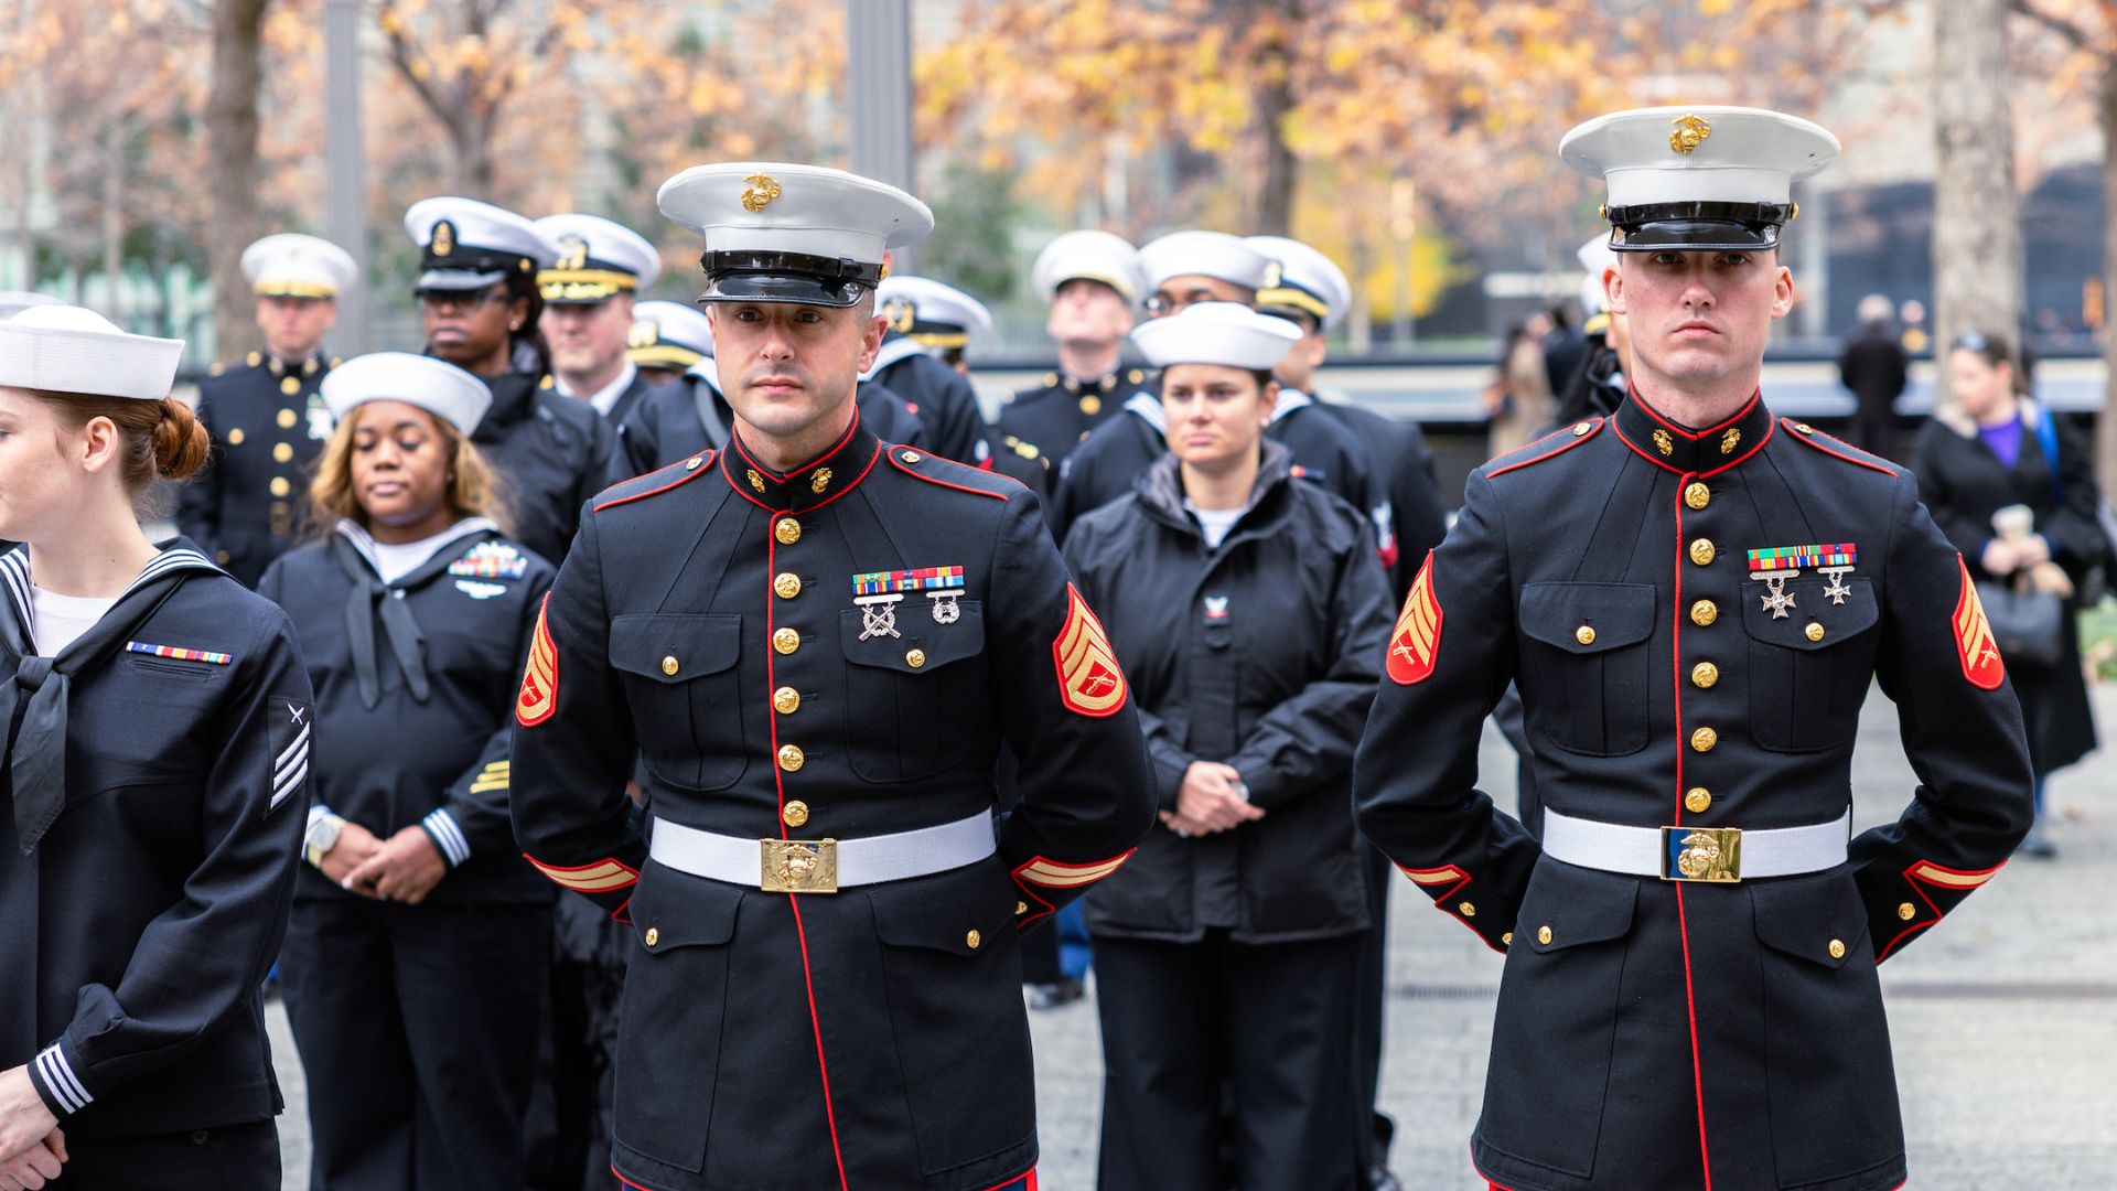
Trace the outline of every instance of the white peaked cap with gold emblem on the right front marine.
{"label": "white peaked cap with gold emblem on the right front marine", "polygon": [[1617,252],[1740,252],[1778,244],[1793,182],[1835,161],[1838,138],[1763,108],[1634,108],[1575,127],[1558,159],[1609,182]]}

